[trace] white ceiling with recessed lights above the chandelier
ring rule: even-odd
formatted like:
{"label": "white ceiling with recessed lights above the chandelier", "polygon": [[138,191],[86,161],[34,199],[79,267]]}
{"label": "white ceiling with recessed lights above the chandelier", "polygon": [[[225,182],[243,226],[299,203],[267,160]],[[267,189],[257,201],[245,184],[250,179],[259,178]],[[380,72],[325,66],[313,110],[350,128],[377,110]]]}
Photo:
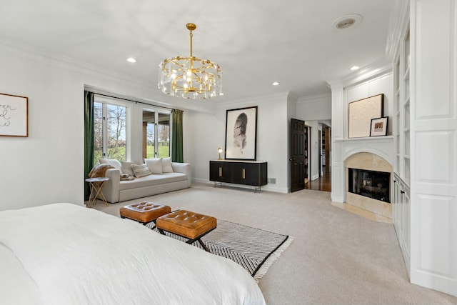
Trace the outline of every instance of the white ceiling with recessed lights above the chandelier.
{"label": "white ceiling with recessed lights above the chandelier", "polygon": [[[211,101],[283,91],[316,96],[351,66],[383,59],[394,1],[3,0],[0,41],[125,74],[159,92],[159,63],[189,56],[192,22],[194,56],[224,71],[224,96]],[[332,27],[347,14],[362,20]]]}

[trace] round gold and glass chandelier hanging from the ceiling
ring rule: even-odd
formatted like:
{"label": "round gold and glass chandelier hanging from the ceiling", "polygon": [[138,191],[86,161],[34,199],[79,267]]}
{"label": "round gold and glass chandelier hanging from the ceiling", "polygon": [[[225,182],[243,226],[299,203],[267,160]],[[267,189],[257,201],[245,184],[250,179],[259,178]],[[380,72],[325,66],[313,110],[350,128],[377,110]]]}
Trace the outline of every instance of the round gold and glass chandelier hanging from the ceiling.
{"label": "round gold and glass chandelier hanging from the ceiling", "polygon": [[164,94],[183,99],[209,99],[222,95],[221,67],[209,59],[192,55],[192,31],[197,26],[186,24],[191,36],[191,56],[164,59],[159,65],[159,89]]}

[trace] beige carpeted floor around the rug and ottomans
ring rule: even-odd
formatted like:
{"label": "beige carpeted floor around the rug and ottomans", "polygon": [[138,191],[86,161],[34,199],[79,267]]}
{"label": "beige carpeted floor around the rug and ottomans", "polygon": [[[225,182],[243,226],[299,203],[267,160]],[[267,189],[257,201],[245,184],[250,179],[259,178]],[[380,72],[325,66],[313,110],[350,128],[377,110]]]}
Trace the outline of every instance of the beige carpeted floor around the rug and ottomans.
{"label": "beige carpeted floor around the rug and ottomans", "polygon": [[187,209],[253,228],[293,236],[259,281],[266,303],[457,304],[457,298],[410,284],[392,224],[331,205],[330,193],[291,194],[212,184],[96,209],[119,216],[140,200]]}

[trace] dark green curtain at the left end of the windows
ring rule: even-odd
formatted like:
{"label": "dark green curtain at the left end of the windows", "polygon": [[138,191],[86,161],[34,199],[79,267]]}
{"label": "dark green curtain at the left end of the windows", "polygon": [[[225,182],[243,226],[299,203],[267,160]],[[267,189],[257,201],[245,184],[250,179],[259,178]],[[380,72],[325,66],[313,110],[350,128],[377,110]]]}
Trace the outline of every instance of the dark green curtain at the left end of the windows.
{"label": "dark green curtain at the left end of the windows", "polygon": [[[84,178],[94,167],[94,94],[84,91]],[[84,200],[89,200],[89,184],[84,181]]]}

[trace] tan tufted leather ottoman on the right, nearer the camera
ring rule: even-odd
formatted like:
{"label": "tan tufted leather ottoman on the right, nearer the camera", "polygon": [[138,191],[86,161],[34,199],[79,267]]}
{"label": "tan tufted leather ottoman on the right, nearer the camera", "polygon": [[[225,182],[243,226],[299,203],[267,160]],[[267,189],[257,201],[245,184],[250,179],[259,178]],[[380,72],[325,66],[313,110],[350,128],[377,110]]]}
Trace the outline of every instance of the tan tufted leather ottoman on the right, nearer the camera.
{"label": "tan tufted leather ottoman on the right, nearer the camera", "polygon": [[216,229],[217,220],[212,216],[197,214],[191,211],[178,210],[173,213],[160,216],[156,221],[157,229],[161,234],[164,231],[183,236],[187,244],[193,244],[199,241],[201,246],[209,252],[201,237]]}

